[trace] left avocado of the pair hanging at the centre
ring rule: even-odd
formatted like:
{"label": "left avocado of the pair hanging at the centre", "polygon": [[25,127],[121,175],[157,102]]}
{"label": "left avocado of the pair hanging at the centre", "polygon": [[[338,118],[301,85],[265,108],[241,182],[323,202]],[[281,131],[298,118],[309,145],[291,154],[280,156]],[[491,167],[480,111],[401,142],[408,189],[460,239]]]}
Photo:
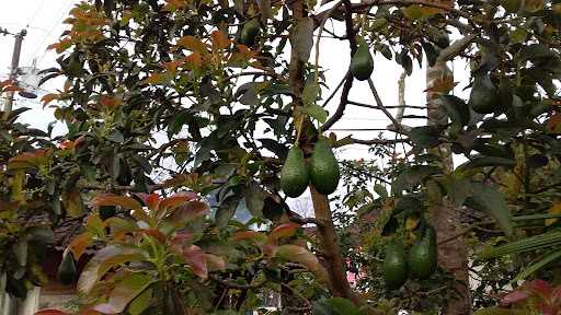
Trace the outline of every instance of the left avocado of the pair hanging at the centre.
{"label": "left avocado of the pair hanging at the centre", "polygon": [[294,145],[288,150],[285,165],[280,171],[280,189],[285,191],[286,196],[296,198],[308,188],[310,176],[304,161],[302,150],[298,145]]}

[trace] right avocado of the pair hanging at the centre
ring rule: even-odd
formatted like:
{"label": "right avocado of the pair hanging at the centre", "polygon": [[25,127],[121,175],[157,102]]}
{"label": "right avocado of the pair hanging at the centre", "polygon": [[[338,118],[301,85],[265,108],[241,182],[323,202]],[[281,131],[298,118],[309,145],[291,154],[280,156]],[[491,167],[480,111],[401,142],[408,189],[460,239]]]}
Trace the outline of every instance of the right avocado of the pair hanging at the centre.
{"label": "right avocado of the pair hanging at the centre", "polygon": [[318,140],[310,158],[311,184],[319,192],[329,195],[337,189],[339,177],[339,162],[328,140]]}

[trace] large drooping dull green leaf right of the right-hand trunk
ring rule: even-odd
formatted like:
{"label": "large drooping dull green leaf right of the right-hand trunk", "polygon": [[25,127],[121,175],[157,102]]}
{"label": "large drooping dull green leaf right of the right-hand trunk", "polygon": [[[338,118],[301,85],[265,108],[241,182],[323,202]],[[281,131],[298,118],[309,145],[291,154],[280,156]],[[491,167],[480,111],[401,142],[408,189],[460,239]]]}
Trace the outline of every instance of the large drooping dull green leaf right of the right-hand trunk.
{"label": "large drooping dull green leaf right of the right-hand trunk", "polygon": [[511,235],[513,233],[512,212],[503,194],[495,187],[482,183],[472,183],[471,189],[473,195],[468,198],[468,205],[491,215],[506,235]]}

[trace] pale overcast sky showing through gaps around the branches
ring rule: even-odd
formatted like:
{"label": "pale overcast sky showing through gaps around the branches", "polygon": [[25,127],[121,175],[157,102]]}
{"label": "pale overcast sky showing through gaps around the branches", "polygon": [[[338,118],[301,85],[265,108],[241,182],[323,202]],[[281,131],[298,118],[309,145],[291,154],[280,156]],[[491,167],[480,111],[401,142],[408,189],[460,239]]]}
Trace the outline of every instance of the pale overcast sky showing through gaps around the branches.
{"label": "pale overcast sky showing through gaps around the branches", "polygon": [[[36,60],[39,69],[56,66],[56,55],[53,51],[46,51],[46,47],[57,40],[58,36],[66,28],[62,21],[68,11],[77,0],[16,0],[2,1],[0,10],[0,27],[9,32],[18,33],[26,28],[27,35],[23,42],[20,67],[30,67],[33,60]],[[339,25],[343,26],[343,25]],[[330,27],[328,23],[328,27]],[[342,30],[341,27],[339,27]],[[324,33],[325,34],[325,33]],[[0,77],[5,78],[9,73],[10,60],[13,49],[13,36],[0,36]],[[348,44],[336,39],[324,38],[321,42],[320,63],[328,70],[327,78],[330,86],[334,88],[345,74],[350,63]],[[379,54],[376,56],[374,81],[386,105],[397,105],[398,103],[398,78],[401,68],[393,61],[388,61]],[[312,56],[313,60],[313,56]],[[456,67],[456,78],[465,75],[462,67]],[[462,73],[458,75],[458,73]],[[420,69],[415,62],[415,70],[412,77],[407,79],[405,102],[411,105],[423,105],[425,103],[425,77],[424,70]],[[460,81],[456,79],[456,81]],[[46,84],[43,89],[54,91],[59,82]],[[463,84],[465,85],[465,84]],[[460,92],[462,85],[456,89]],[[45,128],[54,119],[51,110],[43,110],[38,100],[35,101],[16,100],[16,106],[33,107],[33,113],[25,115],[25,122],[32,124],[38,128]],[[352,101],[374,104],[374,98],[368,90],[366,82],[356,82],[351,92]],[[328,106],[330,113],[333,113],[339,104],[337,97]],[[423,112],[412,112],[408,109],[405,114],[423,115]],[[405,125],[419,125],[424,121],[405,120]],[[355,129],[355,128],[383,128],[389,120],[379,110],[348,106],[345,116],[335,124],[332,129]],[[376,137],[377,131],[335,131],[340,137],[353,133],[355,138],[369,139]],[[357,145],[345,150],[345,154],[353,158],[367,158],[367,148]]]}

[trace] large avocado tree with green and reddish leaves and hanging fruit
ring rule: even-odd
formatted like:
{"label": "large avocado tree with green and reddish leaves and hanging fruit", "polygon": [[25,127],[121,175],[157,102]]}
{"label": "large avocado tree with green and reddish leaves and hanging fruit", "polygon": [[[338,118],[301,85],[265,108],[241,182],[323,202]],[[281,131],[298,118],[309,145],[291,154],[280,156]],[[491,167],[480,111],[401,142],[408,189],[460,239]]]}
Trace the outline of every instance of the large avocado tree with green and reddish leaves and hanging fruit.
{"label": "large avocado tree with green and reddish leaves and hanging fruit", "polygon": [[[44,282],[34,235],[66,220],[83,221],[59,269],[79,278],[81,314],[243,314],[271,294],[282,314],[470,314],[468,268],[517,268],[480,280],[492,289],[554,280],[558,1],[96,0],[66,23],[60,67],[45,70],[66,83],[42,101],[68,132],[1,121],[8,293]],[[319,62],[328,39],[348,45],[339,85]],[[385,106],[376,56],[428,67],[425,126]],[[458,59],[470,78],[454,78]],[[352,100],[357,81],[373,104]],[[449,95],[457,84],[469,100]],[[387,138],[330,132],[356,105],[388,119]],[[346,145],[374,161],[337,161]],[[305,191],[312,218],[287,202]],[[494,303],[482,290],[477,305]]]}

